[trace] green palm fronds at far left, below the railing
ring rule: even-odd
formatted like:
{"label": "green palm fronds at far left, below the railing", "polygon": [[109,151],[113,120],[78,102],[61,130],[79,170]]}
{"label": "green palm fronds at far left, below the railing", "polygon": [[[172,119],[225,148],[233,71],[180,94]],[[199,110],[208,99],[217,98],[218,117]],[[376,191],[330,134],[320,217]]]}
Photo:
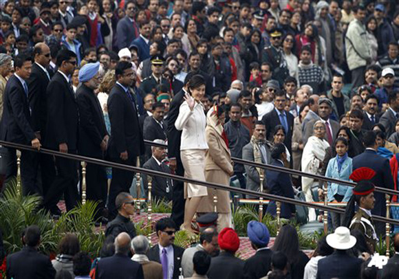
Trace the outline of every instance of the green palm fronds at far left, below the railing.
{"label": "green palm fronds at far left, below the railing", "polygon": [[98,203],[87,201],[53,221],[49,213],[39,209],[41,197],[23,196],[12,181],[0,199],[0,227],[7,254],[22,248],[21,233],[30,225],[38,225],[41,230],[39,249],[45,254],[56,252],[61,238],[68,232],[75,233],[80,247],[93,258],[100,252],[105,239],[104,232],[94,225]]}

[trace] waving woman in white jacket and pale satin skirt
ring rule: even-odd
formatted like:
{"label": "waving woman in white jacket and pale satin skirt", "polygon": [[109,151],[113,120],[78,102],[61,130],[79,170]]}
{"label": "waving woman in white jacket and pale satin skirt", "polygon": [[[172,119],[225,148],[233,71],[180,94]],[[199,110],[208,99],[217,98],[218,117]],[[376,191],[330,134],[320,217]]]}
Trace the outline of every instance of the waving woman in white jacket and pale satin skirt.
{"label": "waving woman in white jacket and pale satin skirt", "polygon": [[[205,179],[205,153],[208,150],[206,143],[205,126],[206,117],[204,105],[201,102],[205,95],[205,80],[200,75],[195,75],[187,83],[188,93],[184,96],[175,122],[177,130],[182,132],[180,156],[184,166],[184,177],[206,181]],[[184,183],[184,223],[182,230],[193,231],[191,221],[202,198],[208,195],[205,186],[193,183]]]}

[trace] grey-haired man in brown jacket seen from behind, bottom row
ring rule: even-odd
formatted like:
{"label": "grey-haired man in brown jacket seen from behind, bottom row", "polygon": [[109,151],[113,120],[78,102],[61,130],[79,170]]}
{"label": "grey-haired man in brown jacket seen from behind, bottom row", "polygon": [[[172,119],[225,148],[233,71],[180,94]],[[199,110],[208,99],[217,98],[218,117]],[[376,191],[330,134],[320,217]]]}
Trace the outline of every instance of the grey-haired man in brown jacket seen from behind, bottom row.
{"label": "grey-haired man in brown jacket seen from behind, bottom row", "polygon": [[140,263],[144,273],[144,279],[162,279],[162,265],[160,263],[149,260],[147,252],[149,250],[149,241],[145,236],[136,236],[131,240],[131,252],[134,260]]}

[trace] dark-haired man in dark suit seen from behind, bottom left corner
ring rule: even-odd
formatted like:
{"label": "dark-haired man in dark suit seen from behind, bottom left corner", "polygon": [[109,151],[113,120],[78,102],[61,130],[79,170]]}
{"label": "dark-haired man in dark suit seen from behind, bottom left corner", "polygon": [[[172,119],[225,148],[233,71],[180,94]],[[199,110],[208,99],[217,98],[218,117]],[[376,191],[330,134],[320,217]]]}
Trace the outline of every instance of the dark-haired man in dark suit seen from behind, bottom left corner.
{"label": "dark-haired man in dark suit seen from behind, bottom left corner", "polygon": [[23,232],[21,251],[7,257],[7,278],[14,279],[54,279],[56,270],[50,258],[39,254],[40,229],[36,225],[27,227]]}

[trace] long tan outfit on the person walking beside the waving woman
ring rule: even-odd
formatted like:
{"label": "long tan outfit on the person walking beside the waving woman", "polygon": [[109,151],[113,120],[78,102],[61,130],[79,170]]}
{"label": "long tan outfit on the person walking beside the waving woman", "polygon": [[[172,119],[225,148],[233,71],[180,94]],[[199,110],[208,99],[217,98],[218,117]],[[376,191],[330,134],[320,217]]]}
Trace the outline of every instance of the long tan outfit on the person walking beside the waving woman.
{"label": "long tan outfit on the person walking beside the waving woman", "polygon": [[[206,126],[205,136],[209,146],[205,154],[206,181],[228,186],[230,184],[230,174],[233,173],[230,150],[222,136],[211,126]],[[208,188],[208,196],[202,200],[197,210],[198,212],[214,212],[213,196],[215,192],[217,194],[217,212],[230,213],[229,192],[213,188]]]}

